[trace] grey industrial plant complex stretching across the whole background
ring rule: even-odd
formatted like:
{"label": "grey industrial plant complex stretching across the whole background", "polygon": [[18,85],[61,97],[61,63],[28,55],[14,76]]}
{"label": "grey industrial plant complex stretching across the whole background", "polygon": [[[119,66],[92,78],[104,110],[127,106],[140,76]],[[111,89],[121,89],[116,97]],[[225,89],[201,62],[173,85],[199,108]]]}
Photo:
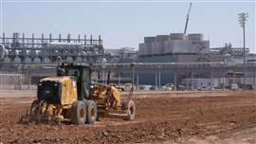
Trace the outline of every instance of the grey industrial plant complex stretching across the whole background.
{"label": "grey industrial plant complex stretching across the whole background", "polygon": [[[145,37],[144,42],[138,44],[138,51],[133,47],[105,49],[101,36],[93,39],[85,35],[74,39],[71,35],[53,38],[49,34],[46,38],[42,34],[36,38],[33,34],[26,37],[25,34],[21,36],[15,32],[12,37],[3,34],[0,45],[0,83],[12,82],[7,81],[6,76],[22,76],[15,83],[21,83],[21,80],[24,83],[36,83],[42,77],[52,76],[55,74],[57,56],[61,56],[64,62],[106,63],[104,70],[97,66],[94,69],[100,72],[101,80],[105,79],[107,71],[115,70],[112,80],[119,84],[131,82],[131,70],[127,67],[129,63],[137,63],[137,87],[147,84],[160,88],[173,83],[175,89],[194,90],[202,85],[210,85],[208,88],[213,89],[227,87],[232,82],[240,86],[243,83],[243,49],[232,45],[210,48],[210,40],[205,40],[203,34],[199,33]],[[256,55],[249,53],[247,48],[246,83],[254,87],[255,62]],[[128,66],[125,66],[127,63]],[[10,72],[12,75],[5,75]]]}

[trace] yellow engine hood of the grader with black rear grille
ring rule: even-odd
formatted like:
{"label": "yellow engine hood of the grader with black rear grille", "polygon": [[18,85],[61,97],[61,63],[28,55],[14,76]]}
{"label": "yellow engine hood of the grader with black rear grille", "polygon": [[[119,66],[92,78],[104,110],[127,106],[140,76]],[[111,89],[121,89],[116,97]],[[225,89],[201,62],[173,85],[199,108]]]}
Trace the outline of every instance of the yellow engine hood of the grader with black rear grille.
{"label": "yellow engine hood of the grader with black rear grille", "polygon": [[53,104],[70,104],[77,100],[77,84],[73,77],[50,77],[38,83],[37,98]]}

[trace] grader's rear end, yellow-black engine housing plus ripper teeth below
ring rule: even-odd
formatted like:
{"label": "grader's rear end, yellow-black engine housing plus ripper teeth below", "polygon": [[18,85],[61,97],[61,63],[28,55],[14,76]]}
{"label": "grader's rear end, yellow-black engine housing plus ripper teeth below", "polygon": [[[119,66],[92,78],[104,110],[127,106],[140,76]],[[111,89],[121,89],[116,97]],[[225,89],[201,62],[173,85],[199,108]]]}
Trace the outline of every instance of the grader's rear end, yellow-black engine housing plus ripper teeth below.
{"label": "grader's rear end, yellow-black engine housing plus ripper teeth below", "polygon": [[[32,119],[61,122],[78,100],[76,79],[72,76],[48,77],[39,81],[37,99],[30,107]],[[64,112],[64,113],[63,113]]]}

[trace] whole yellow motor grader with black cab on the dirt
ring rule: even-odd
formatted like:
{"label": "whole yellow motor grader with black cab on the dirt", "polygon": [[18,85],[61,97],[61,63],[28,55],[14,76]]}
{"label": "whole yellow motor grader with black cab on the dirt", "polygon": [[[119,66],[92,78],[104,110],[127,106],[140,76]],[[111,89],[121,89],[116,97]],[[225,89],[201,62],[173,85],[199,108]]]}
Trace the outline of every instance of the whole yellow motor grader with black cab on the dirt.
{"label": "whole yellow motor grader with black cab on the dirt", "polygon": [[30,120],[73,124],[94,123],[111,116],[134,120],[136,105],[131,99],[132,91],[128,99],[121,101],[115,86],[91,85],[90,65],[62,63],[57,68],[57,77],[39,81],[37,99],[30,106]]}

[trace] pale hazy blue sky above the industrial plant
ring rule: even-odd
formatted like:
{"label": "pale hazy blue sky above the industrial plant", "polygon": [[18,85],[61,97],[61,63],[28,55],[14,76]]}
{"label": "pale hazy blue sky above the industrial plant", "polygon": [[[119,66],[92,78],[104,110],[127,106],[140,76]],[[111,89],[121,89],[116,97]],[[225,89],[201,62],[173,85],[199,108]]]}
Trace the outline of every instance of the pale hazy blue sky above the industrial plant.
{"label": "pale hazy blue sky above the industrial plant", "polygon": [[[138,47],[145,36],[183,32],[191,1],[101,0],[44,1],[0,0],[0,32],[101,34],[105,48]],[[192,1],[188,33],[203,33],[210,47],[231,43],[243,45],[243,31],[237,14],[248,12],[247,46],[256,53],[255,0]]]}

